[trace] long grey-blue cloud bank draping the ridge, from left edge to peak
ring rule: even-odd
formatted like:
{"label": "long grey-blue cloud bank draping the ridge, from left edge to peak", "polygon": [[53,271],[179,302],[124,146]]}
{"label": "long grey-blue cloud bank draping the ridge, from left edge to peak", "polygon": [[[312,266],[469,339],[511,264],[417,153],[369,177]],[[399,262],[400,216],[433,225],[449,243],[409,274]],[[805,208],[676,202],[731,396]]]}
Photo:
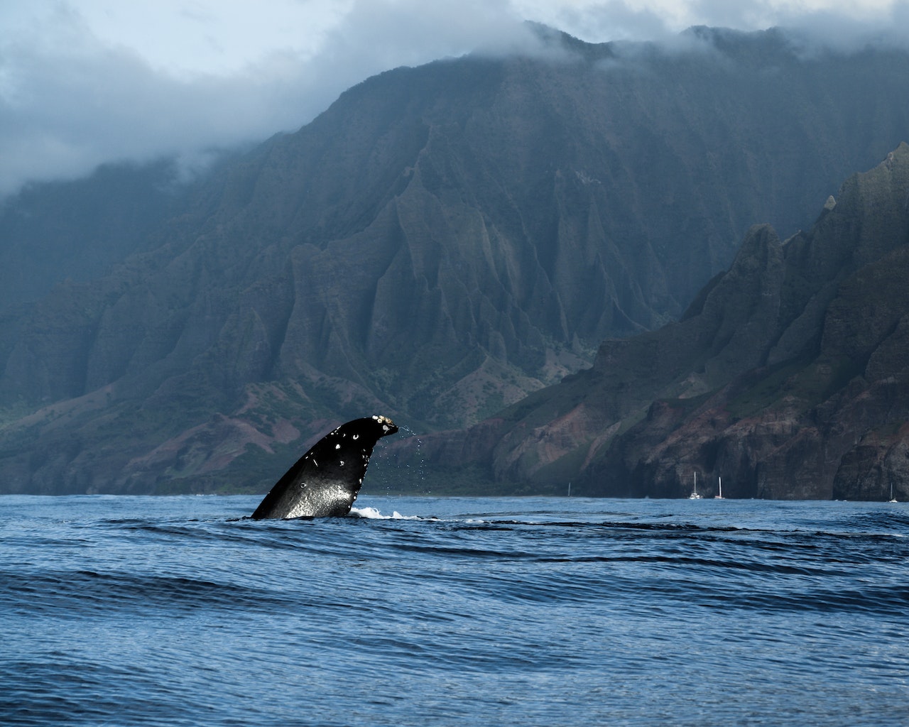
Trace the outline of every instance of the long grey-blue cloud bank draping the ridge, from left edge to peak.
{"label": "long grey-blue cloud bank draping the ridge, from left edge to peak", "polygon": [[[190,20],[213,29],[202,13]],[[307,123],[369,75],[529,38],[504,2],[356,0],[308,45],[194,73],[103,39],[56,5],[39,28],[0,40],[0,194],[104,162],[259,141]]]}

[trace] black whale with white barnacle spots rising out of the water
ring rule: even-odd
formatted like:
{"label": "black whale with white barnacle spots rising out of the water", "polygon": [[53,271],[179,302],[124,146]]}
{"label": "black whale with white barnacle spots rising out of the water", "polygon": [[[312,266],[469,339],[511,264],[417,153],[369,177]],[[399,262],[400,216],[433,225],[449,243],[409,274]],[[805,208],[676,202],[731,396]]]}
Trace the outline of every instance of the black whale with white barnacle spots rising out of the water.
{"label": "black whale with white barnacle spots rising out of the water", "polygon": [[387,416],[375,415],[325,434],[275,483],[252,519],[344,517],[363,485],[375,443],[397,431]]}

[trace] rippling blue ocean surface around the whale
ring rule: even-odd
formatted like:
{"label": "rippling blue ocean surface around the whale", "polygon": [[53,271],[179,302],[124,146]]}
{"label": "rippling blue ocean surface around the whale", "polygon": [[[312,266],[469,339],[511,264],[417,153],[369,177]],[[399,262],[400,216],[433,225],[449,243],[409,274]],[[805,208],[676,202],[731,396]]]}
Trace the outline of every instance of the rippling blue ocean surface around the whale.
{"label": "rippling blue ocean surface around the whale", "polygon": [[909,503],[0,497],[2,725],[909,725]]}

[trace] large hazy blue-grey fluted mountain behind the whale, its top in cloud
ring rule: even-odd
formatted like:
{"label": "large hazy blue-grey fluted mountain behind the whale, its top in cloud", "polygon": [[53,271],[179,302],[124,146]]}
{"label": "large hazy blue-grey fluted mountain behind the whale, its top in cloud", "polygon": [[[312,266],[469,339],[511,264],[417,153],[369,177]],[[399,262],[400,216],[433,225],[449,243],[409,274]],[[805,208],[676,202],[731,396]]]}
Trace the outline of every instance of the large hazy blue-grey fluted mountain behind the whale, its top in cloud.
{"label": "large hazy blue-grey fluted mountain behind the whale, its top in cloud", "polygon": [[[550,44],[375,76],[87,222],[82,184],[8,201],[31,282],[0,310],[0,488],[263,490],[365,412],[483,421],[683,314],[750,224],[806,224],[909,121],[902,51]],[[65,262],[30,278],[8,251],[36,239]]]}

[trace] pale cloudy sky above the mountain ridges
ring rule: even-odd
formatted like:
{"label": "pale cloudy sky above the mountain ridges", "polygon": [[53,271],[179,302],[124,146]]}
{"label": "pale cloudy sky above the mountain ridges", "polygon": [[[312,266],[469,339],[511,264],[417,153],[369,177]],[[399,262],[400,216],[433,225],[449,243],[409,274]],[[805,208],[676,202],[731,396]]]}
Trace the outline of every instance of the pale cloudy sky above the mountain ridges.
{"label": "pale cloudy sky above the mountain ridges", "polygon": [[848,49],[902,43],[909,0],[0,0],[0,197],[163,155],[192,173],[370,75],[532,50],[525,20],[590,42],[782,25]]}

